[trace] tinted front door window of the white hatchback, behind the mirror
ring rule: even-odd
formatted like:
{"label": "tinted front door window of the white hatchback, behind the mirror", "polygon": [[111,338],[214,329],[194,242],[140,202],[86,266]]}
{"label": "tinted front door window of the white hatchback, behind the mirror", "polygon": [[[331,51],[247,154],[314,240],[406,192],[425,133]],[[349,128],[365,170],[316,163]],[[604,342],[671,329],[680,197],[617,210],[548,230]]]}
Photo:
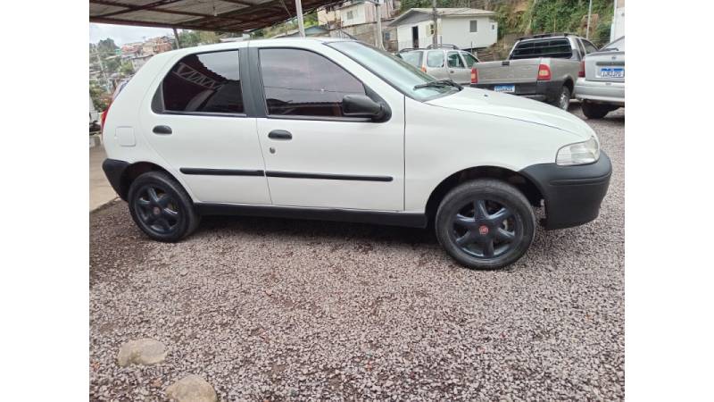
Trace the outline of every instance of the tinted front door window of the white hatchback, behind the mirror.
{"label": "tinted front door window of the white hatchback, behind the mirror", "polygon": [[269,114],[340,117],[345,95],[365,95],[359,80],[320,54],[261,49],[260,55]]}

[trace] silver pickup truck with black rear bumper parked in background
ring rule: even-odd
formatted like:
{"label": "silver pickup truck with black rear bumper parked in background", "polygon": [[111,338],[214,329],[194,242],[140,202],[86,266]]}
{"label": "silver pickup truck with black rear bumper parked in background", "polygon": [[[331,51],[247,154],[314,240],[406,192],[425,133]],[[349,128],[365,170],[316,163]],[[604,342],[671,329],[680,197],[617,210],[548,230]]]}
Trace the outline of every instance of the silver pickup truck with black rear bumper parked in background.
{"label": "silver pickup truck with black rear bumper parked in background", "polygon": [[544,101],[568,110],[585,54],[597,48],[585,38],[552,33],[518,38],[507,60],[474,64],[471,86]]}

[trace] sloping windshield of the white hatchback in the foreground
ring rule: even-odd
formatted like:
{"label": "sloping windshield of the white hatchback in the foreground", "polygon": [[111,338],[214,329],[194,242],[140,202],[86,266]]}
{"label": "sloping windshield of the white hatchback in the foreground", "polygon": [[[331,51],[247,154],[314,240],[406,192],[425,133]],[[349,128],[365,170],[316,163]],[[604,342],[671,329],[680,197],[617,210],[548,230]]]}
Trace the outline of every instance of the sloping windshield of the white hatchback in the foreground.
{"label": "sloping windshield of the white hatchback in the foreground", "polygon": [[436,82],[436,79],[410,63],[406,63],[399,57],[361,42],[332,42],[328,46],[332,46],[355,62],[360,63],[404,95],[419,101],[434,99],[461,90],[459,87],[451,85],[420,87],[421,84]]}

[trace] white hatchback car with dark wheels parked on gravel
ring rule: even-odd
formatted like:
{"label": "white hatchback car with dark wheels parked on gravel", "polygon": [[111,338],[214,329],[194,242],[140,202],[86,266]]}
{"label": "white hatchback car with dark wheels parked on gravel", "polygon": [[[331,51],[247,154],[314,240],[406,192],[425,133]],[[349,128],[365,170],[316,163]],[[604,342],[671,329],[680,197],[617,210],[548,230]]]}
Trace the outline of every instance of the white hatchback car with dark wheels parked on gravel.
{"label": "white hatchback car with dark wheels parked on gravel", "polygon": [[360,42],[281,38],[155,55],[114,100],[104,172],[137,226],[177,241],[201,215],[425,228],[498,268],[546,229],[594,220],[610,159],[550,105],[435,80]]}

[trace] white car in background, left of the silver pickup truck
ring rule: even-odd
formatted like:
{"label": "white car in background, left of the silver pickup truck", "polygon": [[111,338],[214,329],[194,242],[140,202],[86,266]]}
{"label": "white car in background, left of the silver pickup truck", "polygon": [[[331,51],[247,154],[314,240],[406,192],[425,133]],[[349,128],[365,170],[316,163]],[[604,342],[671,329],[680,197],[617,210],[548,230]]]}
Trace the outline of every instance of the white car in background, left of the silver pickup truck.
{"label": "white car in background, left of the silver pickup truck", "polygon": [[465,85],[471,82],[471,69],[478,63],[476,56],[452,45],[404,49],[397,56],[436,80],[452,80]]}

